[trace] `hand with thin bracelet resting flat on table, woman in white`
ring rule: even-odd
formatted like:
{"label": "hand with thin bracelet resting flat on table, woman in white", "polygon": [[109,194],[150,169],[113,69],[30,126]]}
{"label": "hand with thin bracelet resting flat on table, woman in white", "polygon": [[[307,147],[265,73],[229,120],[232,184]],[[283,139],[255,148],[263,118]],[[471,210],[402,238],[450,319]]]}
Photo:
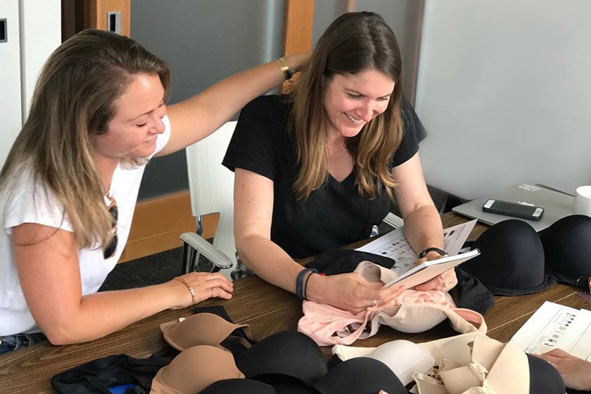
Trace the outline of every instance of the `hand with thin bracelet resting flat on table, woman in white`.
{"label": "hand with thin bracelet resting flat on table, woman in white", "polygon": [[[182,275],[179,279],[183,280],[172,279],[172,281],[168,282],[174,292],[178,294],[178,303],[170,309],[189,307],[213,297],[229,300],[232,297],[232,291],[234,291],[232,282],[219,272],[215,274],[210,272],[191,272]],[[194,297],[184,282],[193,288],[195,292]]]}

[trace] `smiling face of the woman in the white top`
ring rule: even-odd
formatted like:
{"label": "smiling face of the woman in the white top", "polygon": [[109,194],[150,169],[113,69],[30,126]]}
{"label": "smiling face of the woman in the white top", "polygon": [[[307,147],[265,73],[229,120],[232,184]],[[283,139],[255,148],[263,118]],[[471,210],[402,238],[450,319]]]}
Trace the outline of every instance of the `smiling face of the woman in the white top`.
{"label": "smiling face of the woman in the white top", "polygon": [[109,159],[151,155],[156,136],[165,129],[164,87],[158,75],[135,75],[125,93],[115,101],[115,108],[107,131],[94,137],[96,154]]}

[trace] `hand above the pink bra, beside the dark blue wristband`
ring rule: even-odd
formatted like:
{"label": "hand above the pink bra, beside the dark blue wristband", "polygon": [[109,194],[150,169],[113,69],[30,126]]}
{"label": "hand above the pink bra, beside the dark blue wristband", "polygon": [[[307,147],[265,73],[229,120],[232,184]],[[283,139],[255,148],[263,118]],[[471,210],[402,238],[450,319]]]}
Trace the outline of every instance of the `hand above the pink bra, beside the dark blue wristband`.
{"label": "hand above the pink bra, beside the dark blue wristband", "polygon": [[312,274],[307,282],[306,298],[357,314],[367,307],[386,305],[405,290],[404,286],[382,286],[381,282],[369,282],[355,272],[329,277]]}

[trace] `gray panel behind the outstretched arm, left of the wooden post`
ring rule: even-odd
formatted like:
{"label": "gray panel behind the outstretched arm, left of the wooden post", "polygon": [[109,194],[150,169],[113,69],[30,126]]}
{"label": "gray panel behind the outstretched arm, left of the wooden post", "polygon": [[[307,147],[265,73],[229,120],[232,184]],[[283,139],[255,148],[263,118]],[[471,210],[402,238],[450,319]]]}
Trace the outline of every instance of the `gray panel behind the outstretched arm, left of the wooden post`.
{"label": "gray panel behind the outstretched arm, left of the wooden post", "polygon": [[[281,56],[282,0],[132,1],[131,35],[172,69],[170,103]],[[139,199],[188,189],[184,151],[146,167]]]}

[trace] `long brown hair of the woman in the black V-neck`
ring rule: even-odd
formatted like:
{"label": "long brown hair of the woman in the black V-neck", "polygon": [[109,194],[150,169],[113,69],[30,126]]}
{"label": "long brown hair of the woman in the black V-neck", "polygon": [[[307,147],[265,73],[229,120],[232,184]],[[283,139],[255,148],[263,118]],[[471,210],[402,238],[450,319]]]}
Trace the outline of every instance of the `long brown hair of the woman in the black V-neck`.
{"label": "long brown hair of the woman in the black V-neck", "polygon": [[331,23],[291,94],[290,120],[301,165],[293,186],[298,198],[310,196],[326,182],[328,174],[326,84],[336,74],[371,69],[388,75],[395,82],[394,91],[386,111],[347,139],[347,148],[355,160],[359,193],[373,198],[386,189],[393,198],[395,182],[388,161],[402,141],[402,61],[394,33],[380,15],[370,12],[346,13]]}

